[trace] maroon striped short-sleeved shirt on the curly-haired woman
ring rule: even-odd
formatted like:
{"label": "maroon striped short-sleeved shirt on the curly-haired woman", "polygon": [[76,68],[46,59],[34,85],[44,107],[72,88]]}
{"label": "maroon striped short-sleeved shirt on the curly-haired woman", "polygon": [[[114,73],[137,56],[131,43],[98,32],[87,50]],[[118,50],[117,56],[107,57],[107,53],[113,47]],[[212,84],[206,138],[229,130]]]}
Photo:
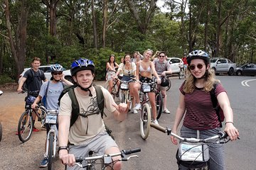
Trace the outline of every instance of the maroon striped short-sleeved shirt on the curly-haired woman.
{"label": "maroon striped short-sleeved shirt on the curly-haired woman", "polygon": [[[210,92],[196,88],[191,94],[185,94],[183,84],[180,89],[184,95],[186,114],[183,125],[194,130],[209,130],[220,127],[218,116],[210,99]],[[225,91],[221,84],[215,89],[215,96]],[[225,91],[226,92],[226,91]]]}

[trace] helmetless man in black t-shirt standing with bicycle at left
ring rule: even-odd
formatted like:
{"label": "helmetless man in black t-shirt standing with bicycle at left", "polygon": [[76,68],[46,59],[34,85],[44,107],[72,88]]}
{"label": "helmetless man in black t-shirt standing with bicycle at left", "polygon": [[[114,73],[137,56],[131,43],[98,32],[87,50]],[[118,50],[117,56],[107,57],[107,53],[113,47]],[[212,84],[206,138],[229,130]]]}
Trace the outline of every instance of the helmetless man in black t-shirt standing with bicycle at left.
{"label": "helmetless man in black t-shirt standing with bicycle at left", "polygon": [[[41,86],[43,84],[42,81],[47,81],[45,74],[41,69],[39,69],[40,64],[40,58],[34,57],[33,61],[31,62],[31,69],[28,69],[25,72],[25,74],[21,78],[21,81],[18,83],[18,93],[21,93],[22,86],[24,83],[26,83],[26,87],[28,89],[28,96],[38,96]],[[38,132],[39,130],[34,127],[35,119],[36,115],[33,115],[33,131]]]}

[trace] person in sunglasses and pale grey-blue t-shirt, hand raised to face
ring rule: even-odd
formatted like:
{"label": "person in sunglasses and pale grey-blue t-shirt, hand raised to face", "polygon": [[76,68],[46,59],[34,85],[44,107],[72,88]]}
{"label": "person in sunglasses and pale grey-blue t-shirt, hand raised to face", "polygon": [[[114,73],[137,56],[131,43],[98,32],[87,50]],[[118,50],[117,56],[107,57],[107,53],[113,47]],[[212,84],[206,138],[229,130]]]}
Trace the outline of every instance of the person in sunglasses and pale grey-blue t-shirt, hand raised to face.
{"label": "person in sunglasses and pale grey-blue t-shirt, hand raised to face", "polygon": [[[60,64],[53,64],[50,66],[50,72],[52,77],[50,81],[46,81],[42,84],[39,95],[36,100],[31,105],[31,108],[35,109],[37,103],[39,103],[42,98],[46,97],[46,101],[44,102],[47,110],[58,110],[58,98],[60,96],[61,91],[63,91],[64,85],[73,85],[70,81],[65,79],[65,75],[63,74],[63,67]],[[46,124],[46,136],[50,130],[48,124]],[[48,158],[46,154],[41,161],[40,167],[46,167],[48,164]]]}

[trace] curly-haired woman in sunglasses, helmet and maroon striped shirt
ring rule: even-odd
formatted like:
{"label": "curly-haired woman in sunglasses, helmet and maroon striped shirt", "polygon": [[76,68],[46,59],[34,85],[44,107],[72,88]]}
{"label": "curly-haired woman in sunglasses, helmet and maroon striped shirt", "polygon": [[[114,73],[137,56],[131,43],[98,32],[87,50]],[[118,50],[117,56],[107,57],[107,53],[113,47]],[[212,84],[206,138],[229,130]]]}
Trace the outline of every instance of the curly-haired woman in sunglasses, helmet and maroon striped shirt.
{"label": "curly-haired woman in sunglasses, helmet and maroon striped shirt", "polygon": [[[183,119],[181,137],[207,138],[218,135],[220,121],[213,107],[210,91],[215,86],[215,96],[225,115],[225,129],[230,140],[236,140],[239,132],[233,123],[233,111],[230,107],[227,92],[215,79],[210,69],[210,57],[202,50],[194,50],[187,57],[188,74],[180,87],[180,98],[172,132],[176,134],[178,125]],[[175,137],[171,142],[178,144]],[[223,144],[208,145],[210,150],[210,170],[225,169]]]}

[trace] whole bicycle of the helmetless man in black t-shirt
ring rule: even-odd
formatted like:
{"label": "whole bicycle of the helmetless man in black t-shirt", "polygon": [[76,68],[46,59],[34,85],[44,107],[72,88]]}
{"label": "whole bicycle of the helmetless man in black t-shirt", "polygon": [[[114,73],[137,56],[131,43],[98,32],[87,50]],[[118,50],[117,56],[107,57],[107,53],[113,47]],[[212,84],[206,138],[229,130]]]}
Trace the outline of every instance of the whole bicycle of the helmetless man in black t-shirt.
{"label": "whole bicycle of the helmetless man in black t-shirt", "polygon": [[[22,93],[25,93],[28,91],[22,91]],[[36,92],[31,92],[38,93]],[[33,113],[38,118],[38,121],[43,120],[43,116],[46,115],[47,110],[46,108],[41,105],[41,103],[38,104],[38,107],[33,110],[31,108],[31,105],[33,104],[33,101],[36,100],[36,97],[34,96],[26,96],[25,101],[25,112],[21,114],[21,117],[18,120],[18,139],[21,140],[21,142],[26,142],[30,139],[32,132],[33,132]],[[43,125],[43,124],[42,124]]]}

